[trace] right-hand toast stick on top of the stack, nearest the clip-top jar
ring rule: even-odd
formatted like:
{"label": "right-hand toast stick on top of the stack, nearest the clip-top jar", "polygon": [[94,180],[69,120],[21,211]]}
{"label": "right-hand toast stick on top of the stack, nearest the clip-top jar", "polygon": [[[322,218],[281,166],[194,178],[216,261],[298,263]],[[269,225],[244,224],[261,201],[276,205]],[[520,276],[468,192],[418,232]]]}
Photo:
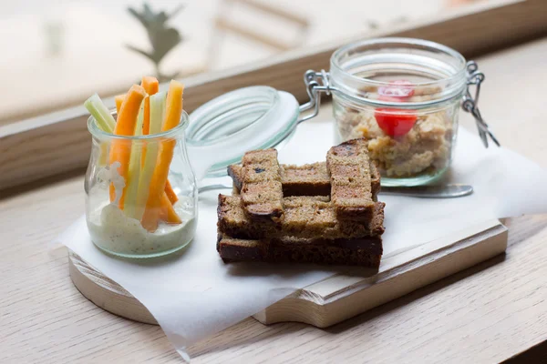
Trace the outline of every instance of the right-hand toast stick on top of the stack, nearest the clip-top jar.
{"label": "right-hand toast stick on top of the stack, nearest the clip-top jar", "polygon": [[364,139],[348,140],[326,154],[336,217],[369,220],[375,210],[370,160]]}

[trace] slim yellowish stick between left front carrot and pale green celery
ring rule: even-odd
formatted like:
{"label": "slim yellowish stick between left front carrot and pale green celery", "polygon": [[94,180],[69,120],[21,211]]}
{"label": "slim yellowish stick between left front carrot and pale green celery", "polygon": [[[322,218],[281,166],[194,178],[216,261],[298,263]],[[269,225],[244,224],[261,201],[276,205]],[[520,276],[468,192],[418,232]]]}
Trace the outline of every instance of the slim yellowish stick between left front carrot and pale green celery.
{"label": "slim yellowish stick between left front carrot and pale green celery", "polygon": [[[134,136],[142,136],[142,121],[144,120],[144,102],[140,106],[139,116],[137,116],[137,125],[135,126]],[[140,159],[143,141],[134,141],[131,147],[131,157],[129,158],[128,187],[123,211],[128,217],[140,219],[136,215],[137,199],[139,192],[140,179]]]}

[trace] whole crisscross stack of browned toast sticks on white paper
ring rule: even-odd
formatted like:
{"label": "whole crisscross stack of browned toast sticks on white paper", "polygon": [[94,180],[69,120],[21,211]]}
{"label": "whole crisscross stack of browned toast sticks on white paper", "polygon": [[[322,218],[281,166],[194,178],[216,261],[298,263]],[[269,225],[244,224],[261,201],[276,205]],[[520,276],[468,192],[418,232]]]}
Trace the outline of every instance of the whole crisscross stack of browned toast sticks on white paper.
{"label": "whole crisscross stack of browned toast sticks on white paper", "polygon": [[279,165],[275,149],[228,167],[219,195],[217,250],[225,262],[310,262],[378,268],[384,206],[366,141],[332,147],[326,162]]}

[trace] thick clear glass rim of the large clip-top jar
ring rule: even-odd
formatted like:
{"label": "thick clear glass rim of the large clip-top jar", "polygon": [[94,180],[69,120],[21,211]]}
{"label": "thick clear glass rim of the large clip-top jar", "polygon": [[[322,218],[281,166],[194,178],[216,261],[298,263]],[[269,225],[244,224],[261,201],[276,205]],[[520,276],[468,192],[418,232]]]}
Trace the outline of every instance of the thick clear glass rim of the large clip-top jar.
{"label": "thick clear glass rim of the large clip-top jar", "polygon": [[[394,60],[401,65],[409,66],[408,69],[417,67],[417,65],[418,67],[428,67],[425,74],[435,75],[438,78],[412,81],[410,82],[411,86],[416,88],[439,86],[441,91],[432,94],[435,97],[428,100],[379,100],[366,96],[366,93],[364,95],[363,90],[368,87],[392,86],[393,81],[358,76],[355,72],[351,72],[350,67],[355,70],[368,66],[370,71],[376,70],[373,66],[377,63],[390,63],[395,62]],[[421,64],[418,61],[426,63]],[[377,69],[381,70],[382,68],[379,66]],[[374,38],[350,43],[336,49],[330,59],[330,79],[333,91],[341,96],[355,99],[357,102],[373,106],[422,108],[438,105],[461,96],[467,85],[467,67],[465,57],[446,45],[405,37]]]}

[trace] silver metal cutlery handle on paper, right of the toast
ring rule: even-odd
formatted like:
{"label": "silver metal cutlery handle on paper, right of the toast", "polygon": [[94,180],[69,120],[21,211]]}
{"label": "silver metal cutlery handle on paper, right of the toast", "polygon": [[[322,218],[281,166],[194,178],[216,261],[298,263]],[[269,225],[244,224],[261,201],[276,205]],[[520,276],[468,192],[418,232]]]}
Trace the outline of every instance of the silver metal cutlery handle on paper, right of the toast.
{"label": "silver metal cutlery handle on paper, right of the toast", "polygon": [[380,190],[384,195],[422,197],[422,198],[454,198],[464,197],[473,193],[469,185],[442,185],[417,187],[384,187]]}

